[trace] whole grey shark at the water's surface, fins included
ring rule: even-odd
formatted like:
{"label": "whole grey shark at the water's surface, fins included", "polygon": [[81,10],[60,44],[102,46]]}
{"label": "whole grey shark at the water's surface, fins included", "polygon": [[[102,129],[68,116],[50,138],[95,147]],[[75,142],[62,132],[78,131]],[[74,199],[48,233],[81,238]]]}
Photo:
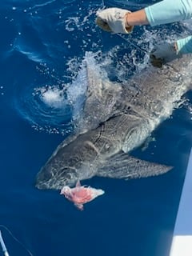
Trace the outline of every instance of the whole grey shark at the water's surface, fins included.
{"label": "whole grey shark at the water's surface, fins included", "polygon": [[[147,66],[126,85],[114,84],[90,69],[89,88],[78,134],[66,138],[37,175],[38,189],[60,190],[102,176],[141,178],[172,167],[133,158],[160,122],[170,117],[182,94],[190,90],[192,57],[183,56],[161,69]],[[89,130],[90,129],[90,130]]]}

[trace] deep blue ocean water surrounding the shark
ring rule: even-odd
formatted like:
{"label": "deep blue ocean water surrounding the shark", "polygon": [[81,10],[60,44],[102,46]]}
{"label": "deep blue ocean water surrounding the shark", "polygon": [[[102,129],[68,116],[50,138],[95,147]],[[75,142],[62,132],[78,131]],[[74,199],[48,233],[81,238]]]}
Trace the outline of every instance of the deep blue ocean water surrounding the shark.
{"label": "deep blue ocean water surrounding the shark", "polygon": [[[95,26],[96,11],[103,5],[137,10],[153,2],[1,2],[0,223],[33,255],[169,254],[192,142],[191,93],[154,131],[146,150],[134,151],[137,157],[174,166],[170,173],[129,182],[93,178],[86,184],[106,194],[82,212],[58,191],[34,187],[38,170],[73,133],[83,91],[81,79],[75,78],[86,52],[104,60],[111,80],[123,82],[146,65],[147,53],[159,39],[180,33],[177,24],[143,26],[120,38]],[[10,256],[28,255],[3,228],[2,234]]]}

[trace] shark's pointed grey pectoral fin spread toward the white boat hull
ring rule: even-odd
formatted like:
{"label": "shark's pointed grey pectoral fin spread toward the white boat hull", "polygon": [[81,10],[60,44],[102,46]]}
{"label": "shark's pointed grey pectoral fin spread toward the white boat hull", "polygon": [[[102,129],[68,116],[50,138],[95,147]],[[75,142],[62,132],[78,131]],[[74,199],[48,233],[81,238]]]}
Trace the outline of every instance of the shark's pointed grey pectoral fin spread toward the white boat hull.
{"label": "shark's pointed grey pectoral fin spread toward the white boat hull", "polygon": [[144,178],[164,174],[172,166],[164,166],[154,162],[147,162],[128,154],[120,153],[102,162],[98,176],[108,178]]}

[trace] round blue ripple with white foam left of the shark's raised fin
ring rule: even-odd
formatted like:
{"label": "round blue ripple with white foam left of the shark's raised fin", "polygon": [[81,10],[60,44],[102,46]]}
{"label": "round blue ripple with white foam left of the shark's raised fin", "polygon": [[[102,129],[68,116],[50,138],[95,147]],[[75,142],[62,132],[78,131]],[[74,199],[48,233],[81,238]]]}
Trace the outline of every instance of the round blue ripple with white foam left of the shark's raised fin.
{"label": "round blue ripple with white foam left of the shark's raised fin", "polygon": [[65,91],[58,86],[35,88],[31,85],[26,90],[18,90],[15,107],[35,129],[61,134],[71,132],[71,106]]}

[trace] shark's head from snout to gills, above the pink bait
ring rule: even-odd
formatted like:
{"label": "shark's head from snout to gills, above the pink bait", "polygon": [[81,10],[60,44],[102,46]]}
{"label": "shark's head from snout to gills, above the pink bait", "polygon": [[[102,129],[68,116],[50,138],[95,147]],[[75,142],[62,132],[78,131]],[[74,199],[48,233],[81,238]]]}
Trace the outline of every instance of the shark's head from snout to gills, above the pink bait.
{"label": "shark's head from snout to gills, above the pink bait", "polygon": [[[87,147],[79,136],[68,145],[60,145],[38,172],[36,187],[40,190],[60,190],[92,177],[95,151]],[[84,146],[83,146],[84,145]]]}

